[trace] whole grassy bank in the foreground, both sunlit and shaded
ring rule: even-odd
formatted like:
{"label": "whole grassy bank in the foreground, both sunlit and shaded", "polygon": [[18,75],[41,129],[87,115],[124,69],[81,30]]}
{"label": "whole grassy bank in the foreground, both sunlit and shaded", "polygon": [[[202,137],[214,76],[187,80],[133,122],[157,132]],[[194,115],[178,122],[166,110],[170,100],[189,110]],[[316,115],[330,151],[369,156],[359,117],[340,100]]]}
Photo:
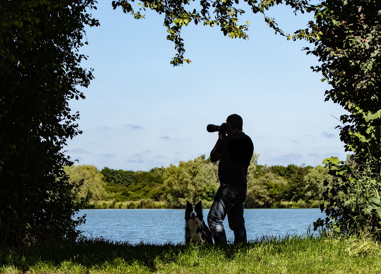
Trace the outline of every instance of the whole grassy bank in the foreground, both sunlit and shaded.
{"label": "whole grassy bank in the foreground, both sunlit and shaded", "polygon": [[81,239],[0,250],[0,273],[381,273],[375,242],[257,239],[226,247]]}

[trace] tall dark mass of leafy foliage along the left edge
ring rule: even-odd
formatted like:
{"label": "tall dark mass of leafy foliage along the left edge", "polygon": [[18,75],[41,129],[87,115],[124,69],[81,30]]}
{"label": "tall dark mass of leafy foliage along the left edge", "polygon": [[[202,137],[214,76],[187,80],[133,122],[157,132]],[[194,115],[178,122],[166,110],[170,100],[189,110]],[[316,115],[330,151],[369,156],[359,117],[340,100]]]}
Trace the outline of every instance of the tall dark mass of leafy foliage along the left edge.
{"label": "tall dark mass of leafy foliage along the left edge", "polygon": [[92,0],[0,1],[0,243],[75,237],[79,183],[62,170],[80,134],[68,107],[93,75],[80,67]]}

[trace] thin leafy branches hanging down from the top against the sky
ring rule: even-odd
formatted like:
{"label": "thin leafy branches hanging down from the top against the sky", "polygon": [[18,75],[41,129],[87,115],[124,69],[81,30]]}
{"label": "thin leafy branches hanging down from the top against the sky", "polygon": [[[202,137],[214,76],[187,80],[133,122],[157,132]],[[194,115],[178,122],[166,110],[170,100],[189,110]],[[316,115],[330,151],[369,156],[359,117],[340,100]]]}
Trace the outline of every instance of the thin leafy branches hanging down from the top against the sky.
{"label": "thin leafy branches hanging down from the top against the sky", "polygon": [[[248,39],[246,31],[249,22],[240,25],[238,16],[245,13],[239,8],[239,0],[200,0],[200,4],[196,5],[192,0],[139,0],[141,3],[133,6],[134,0],[114,0],[112,6],[114,9],[121,7],[124,13],[130,13],[135,19],[144,18],[142,14],[146,9],[154,10],[158,14],[164,16],[164,26],[167,28],[167,39],[174,42],[174,48],[177,51],[174,58],[170,62],[173,66],[178,66],[184,62],[190,63],[191,60],[184,59],[184,42],[180,32],[183,26],[191,23],[195,25],[202,23],[204,26],[219,26],[225,36],[230,38]],[[284,3],[294,8],[294,12],[301,11],[307,6],[308,0],[244,0],[253,13],[262,13],[264,21],[272,27],[275,32],[285,35],[282,30],[277,27],[273,18],[265,15],[265,11],[275,4]],[[213,15],[212,15],[213,14]]]}

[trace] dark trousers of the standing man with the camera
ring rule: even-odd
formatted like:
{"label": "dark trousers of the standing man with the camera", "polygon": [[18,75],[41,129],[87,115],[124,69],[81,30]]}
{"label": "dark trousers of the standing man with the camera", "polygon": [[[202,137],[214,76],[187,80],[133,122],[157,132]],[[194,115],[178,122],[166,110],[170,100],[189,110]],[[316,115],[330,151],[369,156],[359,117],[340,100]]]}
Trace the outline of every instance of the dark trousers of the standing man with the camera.
{"label": "dark trousers of the standing man with the camera", "polygon": [[245,219],[243,218],[243,202],[246,194],[245,187],[223,184],[218,188],[208,213],[208,226],[215,244],[227,244],[223,224],[226,215],[229,227],[234,232],[234,243],[247,242]]}

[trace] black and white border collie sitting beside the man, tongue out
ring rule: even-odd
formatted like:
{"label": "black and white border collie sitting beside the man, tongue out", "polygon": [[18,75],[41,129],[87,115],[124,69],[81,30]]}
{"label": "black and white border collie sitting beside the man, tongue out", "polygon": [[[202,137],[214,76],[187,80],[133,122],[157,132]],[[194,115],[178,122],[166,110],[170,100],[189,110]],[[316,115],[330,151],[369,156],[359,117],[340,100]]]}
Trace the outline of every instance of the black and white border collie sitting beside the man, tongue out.
{"label": "black and white border collie sitting beside the man, tongue out", "polygon": [[195,206],[187,201],[185,208],[185,242],[191,241],[213,245],[212,234],[203,220],[201,201]]}

